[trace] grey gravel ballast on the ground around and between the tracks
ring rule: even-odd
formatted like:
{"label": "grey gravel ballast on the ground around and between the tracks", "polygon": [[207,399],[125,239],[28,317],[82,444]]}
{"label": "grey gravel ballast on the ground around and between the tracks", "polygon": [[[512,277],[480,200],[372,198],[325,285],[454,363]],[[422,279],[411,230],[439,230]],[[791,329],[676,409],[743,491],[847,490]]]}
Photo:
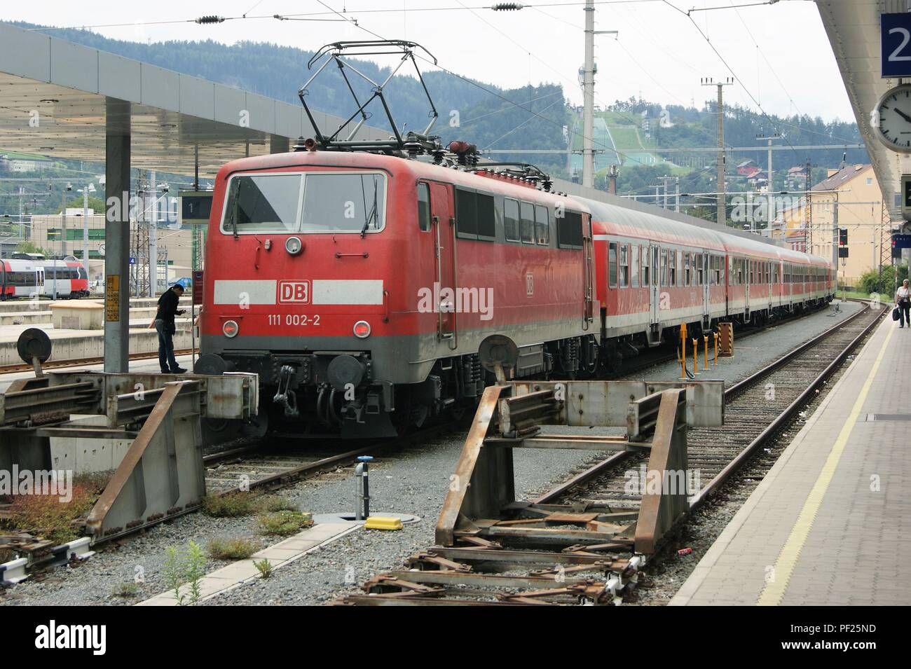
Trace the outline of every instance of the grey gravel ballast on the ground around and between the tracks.
{"label": "grey gravel ballast on the ground around and between the tracks", "polygon": [[[860,305],[848,303],[842,312],[830,316],[832,308],[811,316],[765,329],[735,340],[732,359],[720,360],[715,370],[701,379],[723,379],[726,384],[762,368],[838,320],[855,313]],[[700,356],[701,363],[701,356]],[[648,380],[675,380],[676,363],[640,372]],[[342,593],[359,590],[364,580],[385,569],[398,568],[408,555],[434,542],[436,517],[449,485],[449,477],[464,444],[464,434],[435,438],[403,451],[389,451],[371,463],[371,511],[415,514],[419,522],[405,524],[395,532],[358,530],[347,534],[295,563],[276,570],[270,579],[258,580],[220,595],[207,604],[314,604],[332,600]],[[525,498],[547,490],[585,469],[598,457],[586,451],[516,451],[517,494]],[[278,494],[312,513],[350,512],[354,484],[351,468],[299,481]],[[193,540],[205,547],[212,536],[251,537],[263,546],[279,541],[262,537],[255,516],[214,519],[200,513],[181,516],[122,542],[103,546],[96,555],[77,567],[58,567],[26,582],[0,590],[4,604],[125,604],[137,603],[163,592],[163,575],[169,546],[185,547]],[[209,560],[207,571],[226,563]],[[119,583],[133,583],[141,575],[139,594],[113,594]]]}

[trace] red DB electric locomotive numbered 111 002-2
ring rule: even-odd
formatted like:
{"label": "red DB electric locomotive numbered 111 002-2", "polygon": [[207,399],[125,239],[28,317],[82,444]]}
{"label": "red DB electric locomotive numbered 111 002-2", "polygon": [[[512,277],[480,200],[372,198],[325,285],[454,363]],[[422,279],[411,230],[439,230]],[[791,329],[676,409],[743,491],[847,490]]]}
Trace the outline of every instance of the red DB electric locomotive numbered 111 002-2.
{"label": "red DB electric locomotive numbered 111 002-2", "polygon": [[597,364],[589,209],[524,179],[364,152],[244,158],[215,183],[200,370],[255,371],[280,416],[394,434],[485,386]]}

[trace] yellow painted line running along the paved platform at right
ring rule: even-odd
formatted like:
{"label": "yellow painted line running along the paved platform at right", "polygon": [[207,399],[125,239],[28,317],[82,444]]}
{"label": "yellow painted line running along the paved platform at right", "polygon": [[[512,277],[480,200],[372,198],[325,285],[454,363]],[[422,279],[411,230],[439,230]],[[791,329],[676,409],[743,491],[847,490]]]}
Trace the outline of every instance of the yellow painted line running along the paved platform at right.
{"label": "yellow painted line running along the paved platform at right", "polygon": [[788,583],[791,581],[794,567],[797,565],[801,551],[804,550],[806,538],[809,536],[810,530],[813,529],[816,513],[819,512],[819,507],[823,503],[823,497],[832,482],[835,470],[838,468],[838,462],[842,459],[844,446],[847,444],[848,437],[851,436],[851,431],[854,430],[867,393],[873,387],[873,380],[879,370],[880,363],[885,357],[885,349],[889,345],[889,340],[892,339],[893,332],[895,332],[895,328],[889,328],[888,334],[885,335],[883,345],[880,347],[879,353],[876,354],[876,360],[874,360],[873,367],[870,368],[870,373],[864,381],[864,386],[857,395],[854,407],[851,409],[851,413],[848,414],[847,420],[844,421],[841,431],[838,432],[838,438],[835,439],[832,451],[829,451],[829,456],[825,459],[823,470],[819,472],[810,494],[807,495],[804,507],[801,509],[800,515],[797,516],[797,521],[794,522],[791,533],[788,534],[788,538],[784,542],[782,551],[778,553],[778,558],[775,560],[773,567],[774,580],[765,584],[763,592],[760,593],[759,600],[756,602],[760,606],[777,606],[782,603],[782,598],[787,590]]}

